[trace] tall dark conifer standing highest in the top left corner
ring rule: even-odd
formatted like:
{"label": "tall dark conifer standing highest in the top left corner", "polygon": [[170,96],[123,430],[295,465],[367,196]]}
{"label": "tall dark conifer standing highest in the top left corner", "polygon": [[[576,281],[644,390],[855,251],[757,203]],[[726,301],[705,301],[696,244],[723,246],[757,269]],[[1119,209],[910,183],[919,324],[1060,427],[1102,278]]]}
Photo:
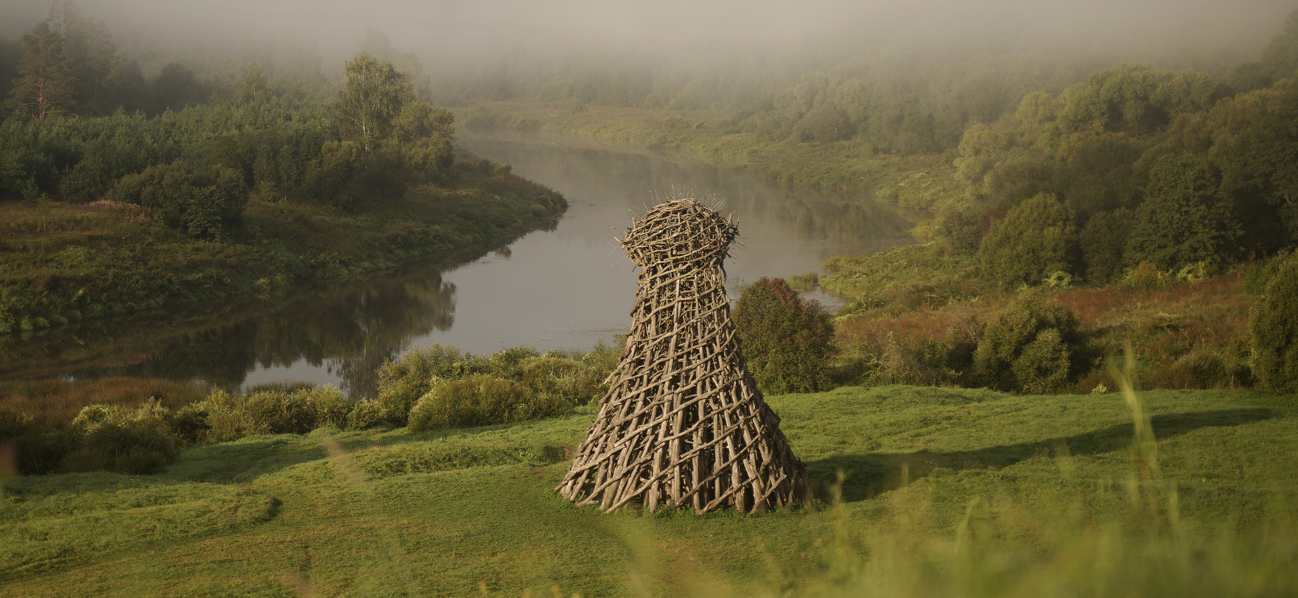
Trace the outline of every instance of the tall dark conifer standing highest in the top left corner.
{"label": "tall dark conifer standing highest in the top left corner", "polygon": [[62,114],[73,106],[73,79],[64,40],[48,22],[39,22],[22,36],[22,61],[13,80],[10,106],[38,121]]}

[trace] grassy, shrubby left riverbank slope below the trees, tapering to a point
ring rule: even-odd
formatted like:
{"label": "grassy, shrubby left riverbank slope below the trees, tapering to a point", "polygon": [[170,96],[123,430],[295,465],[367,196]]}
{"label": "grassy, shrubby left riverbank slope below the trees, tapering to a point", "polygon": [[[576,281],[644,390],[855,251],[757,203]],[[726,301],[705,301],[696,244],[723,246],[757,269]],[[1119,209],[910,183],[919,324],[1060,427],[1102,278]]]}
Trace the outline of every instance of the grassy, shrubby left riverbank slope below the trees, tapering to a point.
{"label": "grassy, shrubby left riverbank slope below the trees, tapering to a point", "polygon": [[0,204],[0,339],[80,319],[274,297],[449,256],[544,227],[567,208],[553,189],[461,158],[444,185],[350,209],[253,195],[228,240],[201,240],[127,206]]}

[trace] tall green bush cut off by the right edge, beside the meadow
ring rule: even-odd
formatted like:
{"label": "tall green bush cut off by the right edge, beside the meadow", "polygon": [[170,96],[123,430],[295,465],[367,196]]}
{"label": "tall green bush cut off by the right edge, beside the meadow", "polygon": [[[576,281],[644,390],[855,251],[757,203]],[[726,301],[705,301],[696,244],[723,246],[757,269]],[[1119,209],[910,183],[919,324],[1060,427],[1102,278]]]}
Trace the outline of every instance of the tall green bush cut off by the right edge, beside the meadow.
{"label": "tall green bush cut off by the right edge, beside the meadow", "polygon": [[1298,392],[1298,256],[1275,270],[1249,318],[1253,374],[1273,392]]}

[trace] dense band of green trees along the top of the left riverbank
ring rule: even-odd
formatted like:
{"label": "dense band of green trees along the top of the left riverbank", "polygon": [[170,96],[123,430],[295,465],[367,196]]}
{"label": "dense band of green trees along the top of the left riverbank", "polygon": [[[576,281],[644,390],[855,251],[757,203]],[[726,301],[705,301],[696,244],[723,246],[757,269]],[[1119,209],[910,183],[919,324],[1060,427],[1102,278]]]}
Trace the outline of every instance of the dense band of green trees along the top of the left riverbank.
{"label": "dense band of green trees along the top of the left riverbank", "polygon": [[450,113],[363,52],[347,62],[334,101],[275,90],[258,64],[227,84],[179,64],[145,80],[101,23],[65,1],[0,56],[14,73],[0,198],[135,204],[219,240],[249,192],[354,209],[445,183],[454,161]]}

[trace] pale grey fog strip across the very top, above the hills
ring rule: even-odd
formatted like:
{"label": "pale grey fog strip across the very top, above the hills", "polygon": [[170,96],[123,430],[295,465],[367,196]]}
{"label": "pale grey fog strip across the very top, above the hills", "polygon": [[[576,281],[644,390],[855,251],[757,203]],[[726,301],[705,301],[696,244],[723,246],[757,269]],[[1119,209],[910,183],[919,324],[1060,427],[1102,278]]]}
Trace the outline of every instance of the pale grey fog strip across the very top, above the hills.
{"label": "pale grey fog strip across the very top, above the hills", "polygon": [[[114,42],[147,62],[167,53],[201,62],[249,44],[293,44],[327,69],[380,30],[430,70],[570,56],[665,56],[945,49],[1110,52],[1120,60],[1249,58],[1282,25],[1293,0],[83,0]],[[0,1],[0,32],[14,38],[48,12]],[[201,66],[201,65],[195,65]],[[1181,66],[1181,65],[1173,65]],[[1211,65],[1208,65],[1211,66]]]}

